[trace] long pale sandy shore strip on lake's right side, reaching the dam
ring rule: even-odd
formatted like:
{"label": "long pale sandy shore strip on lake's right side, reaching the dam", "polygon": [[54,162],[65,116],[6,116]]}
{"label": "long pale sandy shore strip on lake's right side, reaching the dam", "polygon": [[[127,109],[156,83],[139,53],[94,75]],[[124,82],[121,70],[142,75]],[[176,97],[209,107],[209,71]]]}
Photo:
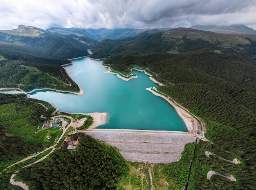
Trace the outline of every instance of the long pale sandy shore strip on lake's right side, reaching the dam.
{"label": "long pale sandy shore strip on lake's right side, reaching the dam", "polygon": [[169,98],[166,98],[165,96],[163,96],[162,94],[158,94],[157,92],[151,90],[151,88],[146,88],[146,90],[152,92],[153,94],[155,94],[156,96],[160,96],[162,98],[164,98],[169,104],[171,104],[174,109],[176,110],[177,114],[182,118],[182,120],[184,121],[186,128],[188,130],[188,132],[191,132],[194,127],[196,127],[199,123],[198,121],[193,118],[193,116],[191,116],[186,110],[184,110],[182,107],[180,107],[179,105],[177,105],[176,103],[174,103],[173,101],[171,101]]}

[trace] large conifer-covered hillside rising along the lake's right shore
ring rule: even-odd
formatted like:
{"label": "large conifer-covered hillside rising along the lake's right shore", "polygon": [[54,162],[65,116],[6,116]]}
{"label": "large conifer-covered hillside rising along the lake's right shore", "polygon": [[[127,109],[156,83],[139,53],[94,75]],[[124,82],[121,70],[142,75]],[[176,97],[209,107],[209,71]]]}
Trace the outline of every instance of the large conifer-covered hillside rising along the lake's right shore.
{"label": "large conifer-covered hillside rising along the lake's right shore", "polygon": [[[203,142],[196,146],[189,189],[254,189],[256,42],[237,36],[210,42],[211,33],[202,35],[195,30],[192,35],[188,31],[182,33],[179,28],[127,41],[110,50],[104,64],[127,73],[131,65],[145,68],[157,81],[166,84],[159,86],[159,91],[205,120],[207,138],[216,146]],[[228,166],[226,162],[207,159],[205,150],[230,160],[229,155],[234,155],[243,163]],[[233,174],[238,181],[219,176],[210,181],[206,178],[209,170],[228,170],[222,175]]]}

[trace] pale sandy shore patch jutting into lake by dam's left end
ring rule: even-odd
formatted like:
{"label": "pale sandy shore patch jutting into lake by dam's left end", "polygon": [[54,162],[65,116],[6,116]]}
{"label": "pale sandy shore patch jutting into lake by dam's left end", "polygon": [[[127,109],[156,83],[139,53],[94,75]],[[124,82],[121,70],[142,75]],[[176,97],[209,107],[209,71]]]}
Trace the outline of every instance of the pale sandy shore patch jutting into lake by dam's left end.
{"label": "pale sandy shore patch jutting into lake by dam's left end", "polygon": [[93,118],[93,123],[88,129],[95,129],[103,124],[107,123],[108,113],[107,112],[93,112],[93,113],[69,113],[69,114],[82,114],[85,116],[91,116]]}

